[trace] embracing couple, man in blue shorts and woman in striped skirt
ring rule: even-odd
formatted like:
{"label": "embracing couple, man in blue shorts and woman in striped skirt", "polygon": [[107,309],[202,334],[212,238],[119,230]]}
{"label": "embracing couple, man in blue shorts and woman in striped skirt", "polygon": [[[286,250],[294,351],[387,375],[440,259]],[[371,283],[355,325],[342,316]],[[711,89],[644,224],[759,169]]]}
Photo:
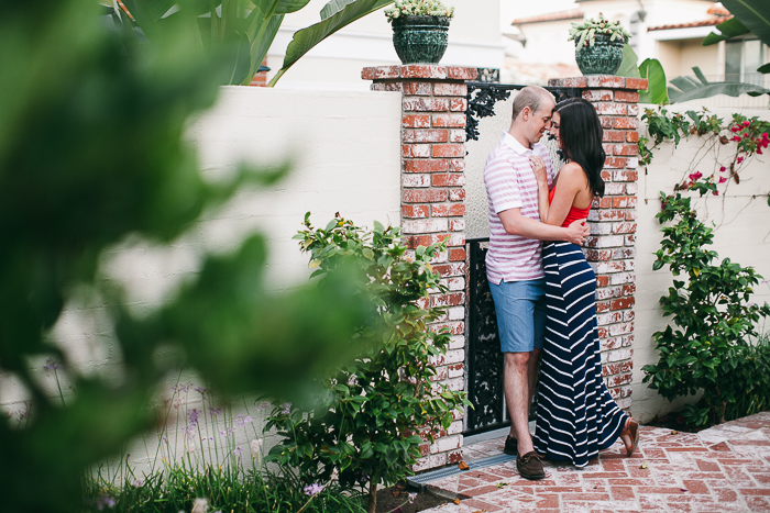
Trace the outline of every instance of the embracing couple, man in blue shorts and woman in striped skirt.
{"label": "embracing couple, man in blue shorts and woman in striped skirt", "polygon": [[[554,176],[546,130],[566,163]],[[529,86],[514,99],[513,122],[490,154],[486,274],[505,355],[505,399],[512,421],[505,453],[526,479],[542,479],[542,459],[584,467],[622,438],[630,456],[639,425],[602,379],[596,331],[596,276],[580,245],[591,231],[594,197],[604,194],[602,125],[583,99],[556,104]],[[528,420],[538,380],[537,428]]]}

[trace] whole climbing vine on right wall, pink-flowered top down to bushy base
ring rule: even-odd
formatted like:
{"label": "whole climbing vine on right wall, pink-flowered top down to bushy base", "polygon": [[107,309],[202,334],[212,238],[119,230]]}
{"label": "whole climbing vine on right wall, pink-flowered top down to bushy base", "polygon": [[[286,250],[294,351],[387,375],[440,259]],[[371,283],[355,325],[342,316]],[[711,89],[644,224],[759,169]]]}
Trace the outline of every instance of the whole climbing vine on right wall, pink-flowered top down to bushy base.
{"label": "whole climbing vine on right wall, pink-flowered top down to bushy base", "polygon": [[[762,411],[770,405],[770,344],[767,334],[761,335],[760,321],[770,316],[770,305],[750,299],[767,281],[754,268],[719,259],[706,248],[713,244],[714,228],[698,220],[691,193],[719,196],[730,181],[739,183],[748,163],[770,145],[770,123],[740,114],[725,123],[706,109],[685,114],[648,109],[642,120],[649,133],[639,137],[642,165],[652,161],[666,141],[674,148],[691,136],[703,141],[673,193],[660,193],[656,218],[666,225],[653,269],[667,266],[674,277],[673,287],[660,298],[671,323],[652,334],[659,360],[642,368],[644,382],[671,401],[702,391],[682,412],[693,425]],[[713,158],[706,158],[710,153]],[[698,170],[710,160],[715,163],[713,171]]]}

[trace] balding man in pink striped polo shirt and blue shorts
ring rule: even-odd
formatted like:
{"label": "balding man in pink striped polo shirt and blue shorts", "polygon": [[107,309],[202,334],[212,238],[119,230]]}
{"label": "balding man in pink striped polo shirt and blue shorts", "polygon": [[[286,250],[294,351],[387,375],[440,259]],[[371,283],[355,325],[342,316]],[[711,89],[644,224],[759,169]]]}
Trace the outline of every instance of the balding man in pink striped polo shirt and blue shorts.
{"label": "balding man in pink striped polo shirt and blue shorts", "polygon": [[554,107],[553,96],[546,89],[521,89],[514,99],[510,129],[484,167],[491,231],[486,276],[497,313],[501,350],[505,354],[505,400],[512,421],[505,453],[517,455],[516,468],[526,479],[546,477],[541,457],[532,448],[528,424],[546,325],[540,241],[580,245],[591,233],[584,220],[569,227],[540,222],[538,185],[529,157],[544,160],[550,186],[553,165],[539,141],[550,126]]}

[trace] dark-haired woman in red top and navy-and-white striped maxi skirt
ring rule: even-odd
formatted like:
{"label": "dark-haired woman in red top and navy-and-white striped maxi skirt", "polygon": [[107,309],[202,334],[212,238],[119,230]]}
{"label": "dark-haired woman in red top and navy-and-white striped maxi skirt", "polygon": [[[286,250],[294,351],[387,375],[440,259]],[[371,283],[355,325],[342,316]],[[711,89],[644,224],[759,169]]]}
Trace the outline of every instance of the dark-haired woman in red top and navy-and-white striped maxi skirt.
{"label": "dark-haired woman in red top and navy-and-white striped maxi skirt", "polygon": [[[530,157],[540,220],[569,226],[587,219],[594,197],[604,196],[602,125],[594,107],[574,98],[556,107],[551,126],[566,163],[549,191],[542,159]],[[575,244],[548,243],[542,256],[548,317],[535,450],[584,467],[620,436],[630,456],[639,443],[639,424],[615,403],[602,379],[596,276]]]}

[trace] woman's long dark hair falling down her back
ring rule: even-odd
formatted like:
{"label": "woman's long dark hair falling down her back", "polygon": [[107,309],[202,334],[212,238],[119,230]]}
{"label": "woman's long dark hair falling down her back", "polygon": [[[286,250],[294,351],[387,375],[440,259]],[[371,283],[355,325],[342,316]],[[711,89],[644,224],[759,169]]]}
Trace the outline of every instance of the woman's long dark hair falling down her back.
{"label": "woman's long dark hair falling down her back", "polygon": [[588,179],[591,192],[604,196],[602,168],[606,154],[602,146],[602,123],[596,109],[582,98],[569,98],[553,109],[559,112],[559,138],[564,157],[580,164]]}

